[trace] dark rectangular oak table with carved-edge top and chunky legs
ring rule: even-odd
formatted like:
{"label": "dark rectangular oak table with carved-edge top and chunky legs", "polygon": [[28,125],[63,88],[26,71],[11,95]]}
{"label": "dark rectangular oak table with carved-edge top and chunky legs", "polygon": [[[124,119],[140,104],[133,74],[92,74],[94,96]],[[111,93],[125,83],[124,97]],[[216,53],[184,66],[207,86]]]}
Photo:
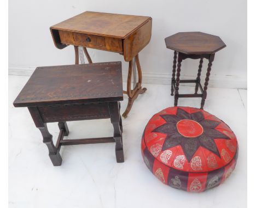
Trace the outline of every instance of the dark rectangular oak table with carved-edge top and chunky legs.
{"label": "dark rectangular oak table with carved-edge top and chunky legs", "polygon": [[[43,136],[54,166],[61,166],[62,145],[115,142],[117,162],[124,162],[120,102],[123,100],[121,62],[38,67],[14,101],[27,107]],[[113,137],[63,139],[66,121],[110,118]],[[47,123],[58,122],[60,133],[53,144]]]}

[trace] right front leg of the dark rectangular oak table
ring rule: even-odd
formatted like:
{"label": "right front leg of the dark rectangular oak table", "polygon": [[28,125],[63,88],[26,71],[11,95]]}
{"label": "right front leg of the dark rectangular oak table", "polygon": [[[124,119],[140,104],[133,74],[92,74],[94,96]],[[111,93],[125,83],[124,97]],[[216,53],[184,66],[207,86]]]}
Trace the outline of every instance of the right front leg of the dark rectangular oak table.
{"label": "right front leg of the dark rectangular oak table", "polygon": [[117,162],[124,162],[122,132],[120,129],[120,113],[118,102],[109,102],[110,121],[114,127],[115,156]]}

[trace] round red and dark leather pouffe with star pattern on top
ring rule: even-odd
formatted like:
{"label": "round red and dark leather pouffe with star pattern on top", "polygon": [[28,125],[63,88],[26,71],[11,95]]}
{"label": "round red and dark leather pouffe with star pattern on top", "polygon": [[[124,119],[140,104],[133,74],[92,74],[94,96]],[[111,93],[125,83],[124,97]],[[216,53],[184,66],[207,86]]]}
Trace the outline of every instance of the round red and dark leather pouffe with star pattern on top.
{"label": "round red and dark leather pouffe with star pattern on top", "polygon": [[202,192],[223,183],[235,168],[238,145],[222,120],[198,108],[156,113],[142,136],[142,156],[163,183]]}

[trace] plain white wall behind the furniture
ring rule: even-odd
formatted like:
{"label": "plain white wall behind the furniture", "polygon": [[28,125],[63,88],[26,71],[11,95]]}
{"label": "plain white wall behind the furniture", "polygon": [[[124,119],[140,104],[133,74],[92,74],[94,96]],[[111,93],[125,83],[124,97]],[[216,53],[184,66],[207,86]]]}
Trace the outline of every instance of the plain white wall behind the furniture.
{"label": "plain white wall behind the furniture", "polygon": [[[201,31],[220,36],[227,45],[216,53],[210,87],[247,88],[245,0],[9,0],[9,74],[31,75],[36,66],[73,64],[73,47],[55,48],[49,27],[86,10],[153,18],[152,38],[139,54],[143,82],[170,83],[173,51],[165,47],[167,36]],[[118,53],[88,51],[92,62],[122,60],[126,75],[127,63]],[[198,65],[198,60],[186,59],[182,77],[196,77]]]}

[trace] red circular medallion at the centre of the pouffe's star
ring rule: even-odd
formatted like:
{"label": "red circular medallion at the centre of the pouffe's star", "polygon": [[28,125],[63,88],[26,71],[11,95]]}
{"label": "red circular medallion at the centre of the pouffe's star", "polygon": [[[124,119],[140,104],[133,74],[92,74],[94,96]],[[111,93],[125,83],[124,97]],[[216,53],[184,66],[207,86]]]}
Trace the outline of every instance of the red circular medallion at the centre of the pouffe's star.
{"label": "red circular medallion at the centre of the pouffe's star", "polygon": [[198,137],[203,133],[202,126],[194,120],[183,119],[177,123],[177,130],[184,137]]}

